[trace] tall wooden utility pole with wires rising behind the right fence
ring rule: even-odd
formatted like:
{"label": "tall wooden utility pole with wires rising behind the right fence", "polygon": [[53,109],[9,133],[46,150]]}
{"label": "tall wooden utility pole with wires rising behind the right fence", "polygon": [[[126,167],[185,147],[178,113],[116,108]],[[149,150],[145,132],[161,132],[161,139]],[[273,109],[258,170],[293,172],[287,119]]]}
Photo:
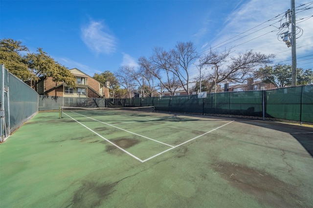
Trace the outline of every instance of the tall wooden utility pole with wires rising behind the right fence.
{"label": "tall wooden utility pole with wires rising behind the right fence", "polygon": [[291,86],[297,84],[297,55],[296,55],[296,37],[295,37],[295,0],[291,0]]}

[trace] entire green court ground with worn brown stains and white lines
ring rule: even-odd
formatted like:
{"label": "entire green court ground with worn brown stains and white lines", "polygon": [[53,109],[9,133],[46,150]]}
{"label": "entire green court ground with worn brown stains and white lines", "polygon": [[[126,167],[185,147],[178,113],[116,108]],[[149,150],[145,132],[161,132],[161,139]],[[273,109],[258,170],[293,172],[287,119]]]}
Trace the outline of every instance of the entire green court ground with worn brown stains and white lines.
{"label": "entire green court ground with worn brown stains and white lines", "polygon": [[1,208],[313,207],[313,128],[39,112],[0,145]]}

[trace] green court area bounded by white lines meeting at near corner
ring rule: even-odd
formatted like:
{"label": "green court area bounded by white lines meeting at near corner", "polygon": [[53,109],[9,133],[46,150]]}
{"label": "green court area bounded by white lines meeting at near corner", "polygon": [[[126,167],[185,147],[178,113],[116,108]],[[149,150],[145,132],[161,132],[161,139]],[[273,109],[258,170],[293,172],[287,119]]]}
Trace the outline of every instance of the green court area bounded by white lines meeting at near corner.
{"label": "green court area bounded by white lines meeting at near corner", "polygon": [[91,112],[77,111],[74,108],[72,111],[64,112],[63,115],[63,118],[67,116],[76,121],[99,138],[142,163],[232,122],[130,112],[125,108],[103,108]]}

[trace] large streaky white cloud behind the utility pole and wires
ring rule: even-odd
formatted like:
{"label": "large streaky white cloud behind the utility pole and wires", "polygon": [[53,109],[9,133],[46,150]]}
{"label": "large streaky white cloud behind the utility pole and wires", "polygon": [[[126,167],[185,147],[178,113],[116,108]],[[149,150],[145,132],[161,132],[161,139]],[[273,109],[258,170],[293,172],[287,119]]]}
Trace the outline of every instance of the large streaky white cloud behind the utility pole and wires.
{"label": "large streaky white cloud behind the utility pole and wires", "polygon": [[[296,7],[308,2],[309,0],[297,2]],[[254,52],[276,54],[274,62],[290,60],[291,47],[288,48],[281,41],[282,39],[278,35],[279,31],[277,30],[281,23],[286,22],[285,12],[290,9],[290,6],[290,2],[274,0],[250,0],[244,3],[228,16],[224,29],[210,42],[210,46],[219,51],[234,47],[237,53],[253,49]],[[312,9],[300,11],[296,11],[296,20],[299,22],[297,26],[301,27],[304,33],[302,37],[299,37],[300,34],[297,35],[297,48],[299,48],[297,49],[297,57],[313,50],[313,18],[301,23],[298,21],[300,18],[312,16]],[[282,14],[280,18],[275,18],[279,14]],[[271,19],[273,21],[268,21]],[[282,21],[280,22],[280,20]],[[249,30],[251,28],[254,29]],[[248,35],[250,33],[251,35]],[[301,47],[303,45],[306,46]],[[283,63],[289,64],[291,61]]]}

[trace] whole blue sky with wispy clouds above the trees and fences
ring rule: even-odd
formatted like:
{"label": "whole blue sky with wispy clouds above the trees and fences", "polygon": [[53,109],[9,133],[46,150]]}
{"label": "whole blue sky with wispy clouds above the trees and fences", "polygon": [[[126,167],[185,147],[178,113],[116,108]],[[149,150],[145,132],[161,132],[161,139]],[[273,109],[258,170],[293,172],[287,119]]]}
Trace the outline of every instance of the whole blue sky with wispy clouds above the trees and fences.
{"label": "whole blue sky with wispy clouds above the trees and fences", "polygon": [[[313,7],[312,0],[296,0],[303,30],[297,63],[306,69],[313,68],[313,9],[305,6]],[[156,46],[167,50],[189,41],[199,53],[253,49],[276,54],[274,63],[291,64],[291,47],[274,31],[285,19],[269,21],[289,8],[290,0],[0,0],[0,39],[21,41],[31,52],[41,47],[89,76],[136,66]]]}

